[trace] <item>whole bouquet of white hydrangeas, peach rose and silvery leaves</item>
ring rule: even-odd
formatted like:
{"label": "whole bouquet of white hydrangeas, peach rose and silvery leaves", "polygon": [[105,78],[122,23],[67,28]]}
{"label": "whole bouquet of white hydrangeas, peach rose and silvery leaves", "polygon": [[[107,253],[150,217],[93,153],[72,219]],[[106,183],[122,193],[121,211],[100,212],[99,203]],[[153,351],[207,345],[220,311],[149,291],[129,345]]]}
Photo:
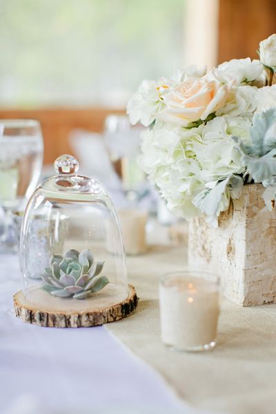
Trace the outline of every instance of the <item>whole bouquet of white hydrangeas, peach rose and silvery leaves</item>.
{"label": "whole bouquet of white hydrangeas, peach rose and silvery leaves", "polygon": [[276,199],[276,34],[259,60],[233,59],[206,73],[190,66],[143,81],[128,102],[130,122],[147,126],[140,165],[168,208],[217,225],[244,184]]}

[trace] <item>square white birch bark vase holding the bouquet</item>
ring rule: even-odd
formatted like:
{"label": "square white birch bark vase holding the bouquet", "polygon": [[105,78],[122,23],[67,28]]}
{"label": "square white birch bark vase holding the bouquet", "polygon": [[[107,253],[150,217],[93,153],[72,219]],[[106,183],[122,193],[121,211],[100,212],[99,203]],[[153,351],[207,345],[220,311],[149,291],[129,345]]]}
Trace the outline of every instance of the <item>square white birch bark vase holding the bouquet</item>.
{"label": "square white birch bark vase holding the bouquet", "polygon": [[244,186],[219,216],[218,228],[203,218],[189,227],[190,267],[221,275],[224,295],[242,306],[276,302],[276,212],[266,208],[264,190],[262,184]]}

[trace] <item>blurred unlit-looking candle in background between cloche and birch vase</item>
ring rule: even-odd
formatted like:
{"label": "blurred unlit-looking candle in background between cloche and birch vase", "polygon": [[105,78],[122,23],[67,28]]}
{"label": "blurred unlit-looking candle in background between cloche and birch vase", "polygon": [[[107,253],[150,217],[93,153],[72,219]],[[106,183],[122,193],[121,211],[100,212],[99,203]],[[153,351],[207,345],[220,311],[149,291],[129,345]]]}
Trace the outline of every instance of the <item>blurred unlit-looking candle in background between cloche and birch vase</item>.
{"label": "blurred unlit-looking candle in background between cloche and birch vase", "polygon": [[146,251],[146,221],[148,214],[136,209],[118,211],[121,233],[127,255],[140,255]]}

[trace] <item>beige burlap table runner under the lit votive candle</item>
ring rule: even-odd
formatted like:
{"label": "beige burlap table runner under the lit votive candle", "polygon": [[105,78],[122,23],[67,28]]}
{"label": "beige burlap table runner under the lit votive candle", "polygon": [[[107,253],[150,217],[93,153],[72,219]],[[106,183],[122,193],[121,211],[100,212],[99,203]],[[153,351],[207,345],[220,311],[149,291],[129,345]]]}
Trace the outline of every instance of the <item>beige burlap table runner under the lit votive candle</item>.
{"label": "beige burlap table runner under the lit votive candle", "polygon": [[275,414],[275,305],[242,308],[224,299],[218,345],[210,353],[175,353],[161,344],[159,277],[185,265],[183,246],[155,245],[146,255],[128,257],[139,306],[131,317],[107,328],[159,371],[186,402],[226,413]]}

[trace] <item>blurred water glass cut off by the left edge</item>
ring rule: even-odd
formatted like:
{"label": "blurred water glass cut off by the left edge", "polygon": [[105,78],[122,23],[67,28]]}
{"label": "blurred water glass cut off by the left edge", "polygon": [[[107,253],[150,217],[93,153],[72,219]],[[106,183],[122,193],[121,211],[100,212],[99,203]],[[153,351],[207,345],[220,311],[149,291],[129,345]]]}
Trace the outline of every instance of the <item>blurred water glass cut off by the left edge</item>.
{"label": "blurred water glass cut off by the left edge", "polygon": [[32,195],[43,162],[43,137],[38,121],[0,120],[0,253],[17,251],[12,210],[23,209]]}

